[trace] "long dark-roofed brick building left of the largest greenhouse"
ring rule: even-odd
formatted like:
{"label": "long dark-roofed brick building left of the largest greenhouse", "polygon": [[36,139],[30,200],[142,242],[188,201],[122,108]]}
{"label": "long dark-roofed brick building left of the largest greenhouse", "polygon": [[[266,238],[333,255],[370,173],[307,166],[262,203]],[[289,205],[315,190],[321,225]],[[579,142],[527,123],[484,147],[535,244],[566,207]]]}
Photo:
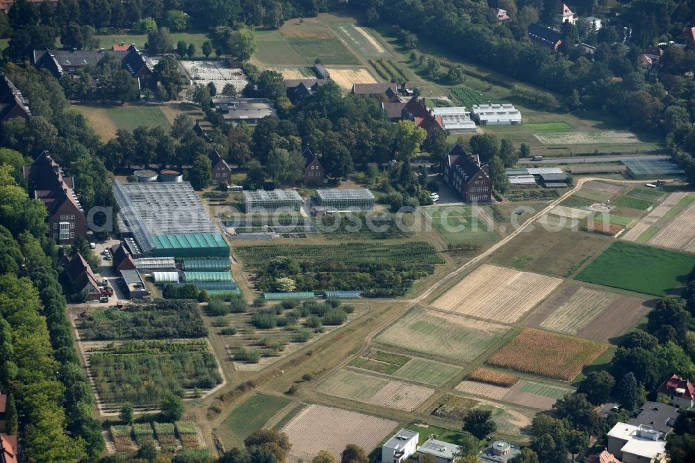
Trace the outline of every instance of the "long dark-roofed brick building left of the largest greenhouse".
{"label": "long dark-roofed brick building left of the largest greenhouse", "polygon": [[86,238],[87,219],[73,190],[74,179],[65,177],[60,165],[46,151],[22,170],[34,199],[46,206],[49,236],[56,244],[70,244],[77,236]]}

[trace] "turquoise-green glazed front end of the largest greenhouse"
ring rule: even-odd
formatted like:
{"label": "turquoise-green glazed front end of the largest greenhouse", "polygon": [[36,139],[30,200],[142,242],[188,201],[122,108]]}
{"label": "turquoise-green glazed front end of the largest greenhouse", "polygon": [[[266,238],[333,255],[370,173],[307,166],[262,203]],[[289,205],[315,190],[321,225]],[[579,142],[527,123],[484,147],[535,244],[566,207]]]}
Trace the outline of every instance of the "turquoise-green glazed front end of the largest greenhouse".
{"label": "turquoise-green glazed front end of the largest greenhouse", "polygon": [[219,233],[155,235],[156,257],[229,257],[229,245]]}

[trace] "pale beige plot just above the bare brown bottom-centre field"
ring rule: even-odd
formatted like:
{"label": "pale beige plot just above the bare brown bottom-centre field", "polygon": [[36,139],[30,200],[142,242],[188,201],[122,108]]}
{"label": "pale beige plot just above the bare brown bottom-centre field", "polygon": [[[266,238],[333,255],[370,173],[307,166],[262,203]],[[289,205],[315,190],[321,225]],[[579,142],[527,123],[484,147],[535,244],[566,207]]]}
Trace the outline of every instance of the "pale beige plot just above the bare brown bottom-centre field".
{"label": "pale beige plot just above the bare brown bottom-centre field", "polygon": [[434,389],[386,380],[350,370],[339,370],[320,382],[317,392],[347,400],[412,412],[432,396]]}

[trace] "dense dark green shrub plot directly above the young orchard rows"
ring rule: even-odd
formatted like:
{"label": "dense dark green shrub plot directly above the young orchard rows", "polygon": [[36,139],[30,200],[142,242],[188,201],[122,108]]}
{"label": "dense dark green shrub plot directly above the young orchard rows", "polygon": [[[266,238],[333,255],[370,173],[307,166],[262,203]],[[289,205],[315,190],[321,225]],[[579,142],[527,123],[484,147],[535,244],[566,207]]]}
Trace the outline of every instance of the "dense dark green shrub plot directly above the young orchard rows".
{"label": "dense dark green shrub plot directly above the young orchard rows", "polygon": [[207,331],[196,306],[190,301],[156,300],[123,309],[86,310],[75,325],[83,340],[202,338]]}

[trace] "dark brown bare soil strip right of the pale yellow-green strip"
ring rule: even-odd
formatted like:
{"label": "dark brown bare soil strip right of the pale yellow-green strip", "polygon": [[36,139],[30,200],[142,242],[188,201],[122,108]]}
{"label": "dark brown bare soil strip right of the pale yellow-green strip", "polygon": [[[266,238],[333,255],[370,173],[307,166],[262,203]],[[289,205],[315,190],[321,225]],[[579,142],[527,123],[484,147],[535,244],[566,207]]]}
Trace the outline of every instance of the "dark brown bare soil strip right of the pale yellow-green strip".
{"label": "dark brown bare soil strip right of the pale yellow-green strip", "polygon": [[594,339],[594,341],[609,341],[615,336],[620,336],[634,325],[639,318],[645,316],[649,308],[643,300],[637,298],[621,297],[614,300],[591,323],[578,332],[582,338]]}

